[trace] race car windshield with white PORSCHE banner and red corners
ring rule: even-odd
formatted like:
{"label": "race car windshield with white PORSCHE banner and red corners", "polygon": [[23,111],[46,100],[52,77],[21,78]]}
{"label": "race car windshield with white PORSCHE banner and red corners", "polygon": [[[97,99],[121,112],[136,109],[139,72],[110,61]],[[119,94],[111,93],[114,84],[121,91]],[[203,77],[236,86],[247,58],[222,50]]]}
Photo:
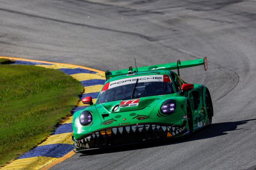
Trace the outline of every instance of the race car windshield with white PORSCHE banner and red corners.
{"label": "race car windshield with white PORSCHE banner and red corners", "polygon": [[173,92],[171,80],[168,75],[147,75],[125,78],[105,84],[97,103],[166,95]]}

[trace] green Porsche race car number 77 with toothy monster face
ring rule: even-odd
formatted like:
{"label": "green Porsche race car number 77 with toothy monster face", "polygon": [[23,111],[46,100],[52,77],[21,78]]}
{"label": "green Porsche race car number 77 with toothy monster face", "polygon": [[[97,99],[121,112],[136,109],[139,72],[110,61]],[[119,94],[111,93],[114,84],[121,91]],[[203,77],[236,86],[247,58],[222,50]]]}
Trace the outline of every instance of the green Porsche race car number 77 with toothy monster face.
{"label": "green Porsche race car number 77 with toothy monster face", "polygon": [[179,69],[198,65],[207,70],[207,58],[106,71],[96,103],[83,98],[90,107],[73,115],[74,151],[181,137],[210,125],[209,90],[179,76]]}

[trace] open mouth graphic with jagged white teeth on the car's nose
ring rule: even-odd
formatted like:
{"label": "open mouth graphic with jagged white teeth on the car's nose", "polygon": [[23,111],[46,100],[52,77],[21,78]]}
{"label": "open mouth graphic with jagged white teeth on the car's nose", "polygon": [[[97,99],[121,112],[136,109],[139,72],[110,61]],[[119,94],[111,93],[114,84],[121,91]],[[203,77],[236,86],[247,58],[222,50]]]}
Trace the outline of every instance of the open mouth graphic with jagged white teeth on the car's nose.
{"label": "open mouth graphic with jagged white teeth on the car's nose", "polygon": [[[158,129],[155,128],[158,126]],[[167,128],[168,127],[168,128]],[[125,129],[125,131],[123,131]],[[132,131],[130,130],[132,129]],[[176,132],[173,131],[176,130]],[[178,132],[179,131],[179,132]],[[172,136],[183,134],[186,132],[186,121],[182,126],[163,126],[163,125],[133,125],[133,126],[124,126],[119,128],[109,128],[101,129],[100,131],[89,134],[88,136],[81,138],[80,140],[75,141],[75,147],[80,149],[88,149],[99,146],[112,146],[117,145],[116,141],[118,138],[127,138],[127,137],[137,137],[137,142],[150,140],[159,137],[167,137],[168,132]],[[111,133],[109,133],[111,132]],[[145,133],[150,136],[147,139],[144,137]],[[96,135],[94,135],[96,134]],[[97,135],[98,134],[98,135]],[[152,135],[154,134],[154,135]],[[144,135],[144,136],[143,136]],[[135,138],[134,138],[135,139]],[[113,143],[111,143],[111,141]]]}

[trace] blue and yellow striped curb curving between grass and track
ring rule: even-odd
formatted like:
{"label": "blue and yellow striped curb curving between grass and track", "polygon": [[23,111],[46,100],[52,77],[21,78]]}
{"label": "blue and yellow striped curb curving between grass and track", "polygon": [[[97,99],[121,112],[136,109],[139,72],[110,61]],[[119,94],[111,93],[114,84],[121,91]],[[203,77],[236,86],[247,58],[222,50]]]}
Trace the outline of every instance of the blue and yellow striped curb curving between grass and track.
{"label": "blue and yellow striped curb curving between grass and track", "polygon": [[[81,99],[86,96],[91,96],[93,102],[96,101],[102,85],[106,81],[105,72],[84,66],[21,59],[17,57],[0,56],[0,58],[14,60],[15,63],[13,64],[35,65],[49,69],[58,69],[80,81],[84,86],[84,93]],[[88,105],[80,101],[75,110],[72,110],[72,114],[86,107],[88,107]],[[70,116],[68,119],[65,119],[56,131],[47,137],[45,141],[1,169],[49,169],[73,156],[75,153],[72,151],[72,118],[73,116]]]}

